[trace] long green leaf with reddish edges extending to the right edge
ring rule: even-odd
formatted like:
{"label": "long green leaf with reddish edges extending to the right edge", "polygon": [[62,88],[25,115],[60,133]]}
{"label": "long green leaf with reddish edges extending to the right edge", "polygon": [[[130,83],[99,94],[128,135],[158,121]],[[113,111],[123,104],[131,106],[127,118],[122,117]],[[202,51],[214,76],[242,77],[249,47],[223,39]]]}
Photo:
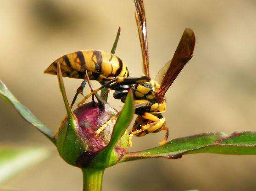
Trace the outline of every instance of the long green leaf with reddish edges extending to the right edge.
{"label": "long green leaf with reddish edges extending to the right edge", "polygon": [[121,162],[164,157],[181,158],[184,154],[256,154],[256,132],[202,133],[194,136],[173,139],[166,144],[139,152],[127,153]]}

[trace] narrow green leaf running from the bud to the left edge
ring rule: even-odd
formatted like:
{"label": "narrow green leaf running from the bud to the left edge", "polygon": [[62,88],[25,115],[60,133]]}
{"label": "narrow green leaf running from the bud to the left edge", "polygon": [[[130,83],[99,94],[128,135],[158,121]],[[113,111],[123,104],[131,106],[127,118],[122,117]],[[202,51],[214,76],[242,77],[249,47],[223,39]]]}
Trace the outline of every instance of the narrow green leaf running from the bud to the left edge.
{"label": "narrow green leaf running from the bud to the left edge", "polygon": [[53,143],[55,139],[53,138],[53,132],[42,122],[36,118],[31,111],[28,110],[26,106],[23,106],[17,99],[14,97],[11,92],[7,89],[6,85],[0,80],[0,97],[13,105],[21,116],[29,122],[31,125],[36,127],[41,133],[43,133],[47,138],[49,138]]}

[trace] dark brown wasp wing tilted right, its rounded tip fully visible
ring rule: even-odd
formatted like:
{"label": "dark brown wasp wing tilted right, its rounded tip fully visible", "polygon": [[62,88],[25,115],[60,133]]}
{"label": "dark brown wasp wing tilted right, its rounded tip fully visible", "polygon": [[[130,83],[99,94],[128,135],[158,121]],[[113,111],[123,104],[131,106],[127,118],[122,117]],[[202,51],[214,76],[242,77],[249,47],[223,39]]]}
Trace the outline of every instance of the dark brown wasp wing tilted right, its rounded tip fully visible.
{"label": "dark brown wasp wing tilted right, its rounded tip fully visible", "polygon": [[173,84],[173,81],[176,79],[185,64],[187,64],[187,62],[192,58],[194,48],[195,34],[191,29],[186,28],[180,42],[178,43],[178,47],[173,55],[170,66],[163,77],[160,88],[156,92],[156,98],[158,101],[163,101],[164,95]]}

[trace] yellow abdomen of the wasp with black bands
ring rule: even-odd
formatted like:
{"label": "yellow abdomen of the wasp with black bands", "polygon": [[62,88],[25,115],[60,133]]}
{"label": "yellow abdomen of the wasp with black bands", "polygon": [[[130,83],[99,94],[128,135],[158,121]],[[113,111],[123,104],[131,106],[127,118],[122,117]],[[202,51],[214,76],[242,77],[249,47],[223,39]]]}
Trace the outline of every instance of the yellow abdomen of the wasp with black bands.
{"label": "yellow abdomen of the wasp with black bands", "polygon": [[110,80],[116,76],[128,77],[126,64],[120,58],[101,50],[82,50],[56,59],[45,70],[47,74],[57,74],[56,64],[60,63],[62,75],[84,79],[87,72],[91,80]]}

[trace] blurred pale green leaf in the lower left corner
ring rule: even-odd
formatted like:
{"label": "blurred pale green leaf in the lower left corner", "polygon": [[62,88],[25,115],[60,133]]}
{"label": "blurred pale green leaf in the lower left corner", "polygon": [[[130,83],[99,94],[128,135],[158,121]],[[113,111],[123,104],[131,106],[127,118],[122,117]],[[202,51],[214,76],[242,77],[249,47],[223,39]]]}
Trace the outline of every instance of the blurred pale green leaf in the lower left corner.
{"label": "blurred pale green leaf in the lower left corner", "polygon": [[45,148],[0,147],[0,184],[49,156]]}

